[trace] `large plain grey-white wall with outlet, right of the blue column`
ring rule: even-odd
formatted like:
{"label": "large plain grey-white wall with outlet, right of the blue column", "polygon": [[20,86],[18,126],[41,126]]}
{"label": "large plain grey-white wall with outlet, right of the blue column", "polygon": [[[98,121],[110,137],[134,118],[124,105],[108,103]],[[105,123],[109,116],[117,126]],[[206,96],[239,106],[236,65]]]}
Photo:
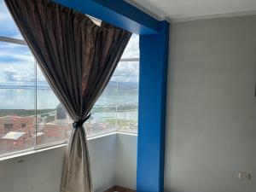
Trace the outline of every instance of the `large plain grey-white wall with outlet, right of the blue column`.
{"label": "large plain grey-white wall with outlet, right of the blue column", "polygon": [[256,16],[175,23],[171,44],[165,191],[255,192]]}

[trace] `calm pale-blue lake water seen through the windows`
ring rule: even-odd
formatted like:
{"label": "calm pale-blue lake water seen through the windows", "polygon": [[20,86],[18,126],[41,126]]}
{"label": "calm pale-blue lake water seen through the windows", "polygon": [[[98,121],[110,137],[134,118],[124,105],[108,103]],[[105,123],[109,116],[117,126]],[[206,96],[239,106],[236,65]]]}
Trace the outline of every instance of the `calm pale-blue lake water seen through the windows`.
{"label": "calm pale-blue lake water seen through the windows", "polygon": [[[35,109],[36,101],[35,89],[31,87],[1,87],[0,86],[0,109]],[[55,109],[59,104],[59,100],[55,96],[54,92],[47,88],[39,88],[37,90],[37,108],[38,109]],[[125,106],[132,110],[126,110],[125,112],[116,113],[114,108]],[[132,119],[137,120],[137,110],[134,107],[137,106],[137,90],[127,89],[119,90],[114,89],[113,86],[107,86],[106,90],[102,93],[102,96],[95,104],[97,108],[93,113],[94,119]],[[109,109],[112,108],[111,112]]]}

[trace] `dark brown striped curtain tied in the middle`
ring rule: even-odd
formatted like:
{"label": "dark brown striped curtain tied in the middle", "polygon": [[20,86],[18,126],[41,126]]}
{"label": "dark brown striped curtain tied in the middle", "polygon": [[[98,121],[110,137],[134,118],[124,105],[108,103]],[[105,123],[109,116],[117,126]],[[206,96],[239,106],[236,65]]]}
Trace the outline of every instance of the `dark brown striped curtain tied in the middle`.
{"label": "dark brown striped curtain tied in the middle", "polygon": [[[130,32],[49,0],[5,0],[55,95],[74,120],[61,192],[92,192],[83,123],[108,84]],[[47,99],[47,98],[46,98]]]}

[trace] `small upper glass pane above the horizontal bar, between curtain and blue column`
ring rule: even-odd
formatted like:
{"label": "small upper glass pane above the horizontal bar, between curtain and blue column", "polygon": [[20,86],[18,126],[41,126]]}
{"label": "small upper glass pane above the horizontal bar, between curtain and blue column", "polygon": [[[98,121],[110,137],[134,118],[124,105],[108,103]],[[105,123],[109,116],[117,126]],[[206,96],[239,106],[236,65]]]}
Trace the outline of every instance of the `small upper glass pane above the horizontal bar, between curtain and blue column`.
{"label": "small upper glass pane above the horizontal bar, between curtain and blue column", "polygon": [[122,58],[139,58],[139,36],[132,34],[129,43],[125,48],[125,52],[122,55]]}

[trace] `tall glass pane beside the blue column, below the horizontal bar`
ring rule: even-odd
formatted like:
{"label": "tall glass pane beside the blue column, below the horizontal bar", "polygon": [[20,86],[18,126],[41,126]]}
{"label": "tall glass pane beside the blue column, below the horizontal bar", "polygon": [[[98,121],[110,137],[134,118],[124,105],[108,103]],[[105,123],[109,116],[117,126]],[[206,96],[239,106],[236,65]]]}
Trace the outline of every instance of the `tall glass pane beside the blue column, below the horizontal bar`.
{"label": "tall glass pane beside the blue column, below the horizontal bar", "polygon": [[139,63],[119,62],[112,80],[117,85],[117,130],[137,133]]}

